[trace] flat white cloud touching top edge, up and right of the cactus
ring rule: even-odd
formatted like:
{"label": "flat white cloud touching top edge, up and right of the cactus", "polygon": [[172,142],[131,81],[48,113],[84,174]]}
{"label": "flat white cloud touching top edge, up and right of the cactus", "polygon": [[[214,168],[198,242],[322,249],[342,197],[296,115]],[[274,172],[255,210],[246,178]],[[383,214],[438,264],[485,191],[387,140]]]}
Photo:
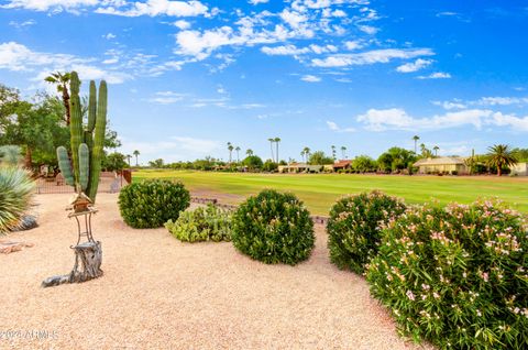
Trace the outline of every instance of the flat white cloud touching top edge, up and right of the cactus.
{"label": "flat white cloud touching top edge, up and right of the cactus", "polygon": [[140,15],[170,15],[170,17],[197,17],[206,15],[208,8],[200,1],[172,1],[172,0],[147,0],[146,2],[135,1],[123,7],[101,7],[96,10],[98,13],[116,14],[124,17]]}

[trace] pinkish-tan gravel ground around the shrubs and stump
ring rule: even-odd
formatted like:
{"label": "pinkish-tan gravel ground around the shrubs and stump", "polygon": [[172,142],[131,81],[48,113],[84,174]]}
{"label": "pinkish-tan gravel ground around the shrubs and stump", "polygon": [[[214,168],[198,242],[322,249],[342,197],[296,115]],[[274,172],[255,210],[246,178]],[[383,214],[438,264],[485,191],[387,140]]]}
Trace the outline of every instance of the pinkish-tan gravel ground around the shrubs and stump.
{"label": "pinkish-tan gravel ground around the shrubs and stump", "polygon": [[117,195],[98,196],[105,275],[41,288],[73,266],[70,195],[41,195],[34,243],[0,254],[0,349],[416,349],[396,335],[365,281],[329,263],[323,227],[309,261],[265,265],[230,243],[184,244],[134,230]]}

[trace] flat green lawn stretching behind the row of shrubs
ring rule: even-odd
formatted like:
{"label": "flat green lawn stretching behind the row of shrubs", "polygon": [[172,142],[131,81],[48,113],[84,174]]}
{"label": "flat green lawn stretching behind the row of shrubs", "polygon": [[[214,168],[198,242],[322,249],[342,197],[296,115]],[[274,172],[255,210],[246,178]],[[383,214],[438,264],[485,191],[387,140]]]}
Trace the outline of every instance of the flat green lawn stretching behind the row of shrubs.
{"label": "flat green lawn stretching behind the row of shrubs", "polygon": [[201,197],[219,197],[222,203],[237,204],[263,188],[289,190],[301,198],[312,214],[328,215],[337,198],[364,190],[381,189],[421,204],[431,199],[440,204],[469,204],[477,198],[498,197],[512,207],[528,212],[528,178],[396,176],[349,174],[241,174],[191,171],[139,171],[133,181],[176,178]]}

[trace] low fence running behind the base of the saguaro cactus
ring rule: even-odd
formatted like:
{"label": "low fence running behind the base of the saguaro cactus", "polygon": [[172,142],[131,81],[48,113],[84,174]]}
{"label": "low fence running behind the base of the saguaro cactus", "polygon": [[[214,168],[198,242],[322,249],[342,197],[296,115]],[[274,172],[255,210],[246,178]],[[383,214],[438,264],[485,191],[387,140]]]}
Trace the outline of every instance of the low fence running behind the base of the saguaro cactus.
{"label": "low fence running behind the base of the saguaro cactus", "polygon": [[[128,185],[125,176],[112,172],[103,172],[99,178],[98,193],[114,194],[121,190],[121,187]],[[65,184],[61,174],[55,177],[36,179],[36,194],[73,194],[73,186]]]}

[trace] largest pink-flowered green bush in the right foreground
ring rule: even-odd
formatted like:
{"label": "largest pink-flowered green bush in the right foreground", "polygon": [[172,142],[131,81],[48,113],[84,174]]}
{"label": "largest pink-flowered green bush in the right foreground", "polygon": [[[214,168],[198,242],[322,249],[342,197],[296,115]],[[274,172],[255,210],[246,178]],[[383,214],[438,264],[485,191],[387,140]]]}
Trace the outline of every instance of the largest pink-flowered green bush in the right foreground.
{"label": "largest pink-flowered green bush in the right foreground", "polygon": [[527,349],[527,251],[525,219],[497,203],[426,206],[389,222],[366,277],[415,340]]}

